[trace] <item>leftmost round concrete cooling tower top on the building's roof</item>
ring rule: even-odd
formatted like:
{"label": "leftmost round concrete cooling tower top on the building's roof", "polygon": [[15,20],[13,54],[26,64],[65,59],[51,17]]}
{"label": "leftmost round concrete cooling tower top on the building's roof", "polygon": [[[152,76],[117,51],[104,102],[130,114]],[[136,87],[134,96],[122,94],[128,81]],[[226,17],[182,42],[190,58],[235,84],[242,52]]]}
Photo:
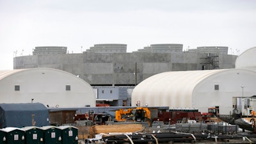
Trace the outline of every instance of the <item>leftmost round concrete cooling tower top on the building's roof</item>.
{"label": "leftmost round concrete cooling tower top on the building's roof", "polygon": [[33,49],[33,55],[36,54],[67,54],[67,47],[35,47],[35,49]]}

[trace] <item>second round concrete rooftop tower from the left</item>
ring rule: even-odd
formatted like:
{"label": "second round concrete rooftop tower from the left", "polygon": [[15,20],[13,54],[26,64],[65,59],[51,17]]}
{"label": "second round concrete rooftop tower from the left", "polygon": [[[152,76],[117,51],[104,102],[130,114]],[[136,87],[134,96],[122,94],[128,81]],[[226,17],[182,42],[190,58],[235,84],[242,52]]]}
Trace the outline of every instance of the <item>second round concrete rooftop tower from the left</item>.
{"label": "second round concrete rooftop tower from the left", "polygon": [[96,52],[96,53],[124,53],[127,50],[126,44],[95,44],[86,52]]}

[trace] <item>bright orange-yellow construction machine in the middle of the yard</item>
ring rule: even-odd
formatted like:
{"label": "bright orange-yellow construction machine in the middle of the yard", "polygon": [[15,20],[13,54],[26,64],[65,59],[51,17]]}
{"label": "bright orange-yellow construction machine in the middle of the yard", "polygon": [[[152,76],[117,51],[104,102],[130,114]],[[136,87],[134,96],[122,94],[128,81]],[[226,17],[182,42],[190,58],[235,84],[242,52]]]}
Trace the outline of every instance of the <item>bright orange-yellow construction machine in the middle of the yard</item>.
{"label": "bright orange-yellow construction machine in the middle of the yard", "polygon": [[152,125],[150,110],[141,107],[118,109],[115,111],[115,120],[117,122],[147,122],[149,127]]}

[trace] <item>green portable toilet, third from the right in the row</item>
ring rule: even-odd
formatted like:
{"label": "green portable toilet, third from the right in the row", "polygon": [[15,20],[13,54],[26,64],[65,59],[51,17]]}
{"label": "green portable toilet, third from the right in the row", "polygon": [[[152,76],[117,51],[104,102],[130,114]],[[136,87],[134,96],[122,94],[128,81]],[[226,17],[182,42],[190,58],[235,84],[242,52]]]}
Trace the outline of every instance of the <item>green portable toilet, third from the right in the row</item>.
{"label": "green portable toilet, third from the right in the row", "polygon": [[25,131],[25,141],[29,144],[44,144],[44,131],[40,127],[22,127]]}

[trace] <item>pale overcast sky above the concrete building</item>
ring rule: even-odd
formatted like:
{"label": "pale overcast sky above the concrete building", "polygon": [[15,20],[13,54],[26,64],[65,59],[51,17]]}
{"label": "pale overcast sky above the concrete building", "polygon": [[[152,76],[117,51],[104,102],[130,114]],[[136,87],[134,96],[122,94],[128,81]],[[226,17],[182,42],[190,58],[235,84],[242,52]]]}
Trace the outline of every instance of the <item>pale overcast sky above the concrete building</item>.
{"label": "pale overcast sky above the concrete building", "polygon": [[127,44],[127,52],[183,44],[241,54],[256,46],[255,34],[254,0],[0,0],[0,70],[36,46],[80,53],[94,44]]}

